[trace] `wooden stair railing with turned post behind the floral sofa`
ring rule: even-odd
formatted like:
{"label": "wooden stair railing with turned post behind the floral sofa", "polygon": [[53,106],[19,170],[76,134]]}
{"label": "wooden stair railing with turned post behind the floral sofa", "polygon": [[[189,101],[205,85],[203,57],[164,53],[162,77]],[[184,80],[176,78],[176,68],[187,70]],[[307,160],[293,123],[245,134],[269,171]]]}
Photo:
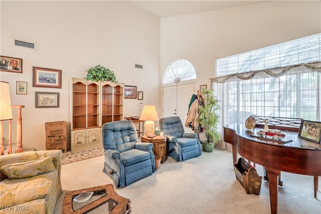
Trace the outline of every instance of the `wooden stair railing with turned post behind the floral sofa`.
{"label": "wooden stair railing with turned post behind the floral sofa", "polygon": [[[25,108],[23,105],[12,105],[12,108],[18,109],[17,115],[17,148],[16,153],[22,152],[22,116],[21,116],[21,109]],[[8,153],[12,154],[12,120],[9,120],[9,148]],[[3,121],[0,122],[0,155],[4,154],[4,133],[3,133]]]}

